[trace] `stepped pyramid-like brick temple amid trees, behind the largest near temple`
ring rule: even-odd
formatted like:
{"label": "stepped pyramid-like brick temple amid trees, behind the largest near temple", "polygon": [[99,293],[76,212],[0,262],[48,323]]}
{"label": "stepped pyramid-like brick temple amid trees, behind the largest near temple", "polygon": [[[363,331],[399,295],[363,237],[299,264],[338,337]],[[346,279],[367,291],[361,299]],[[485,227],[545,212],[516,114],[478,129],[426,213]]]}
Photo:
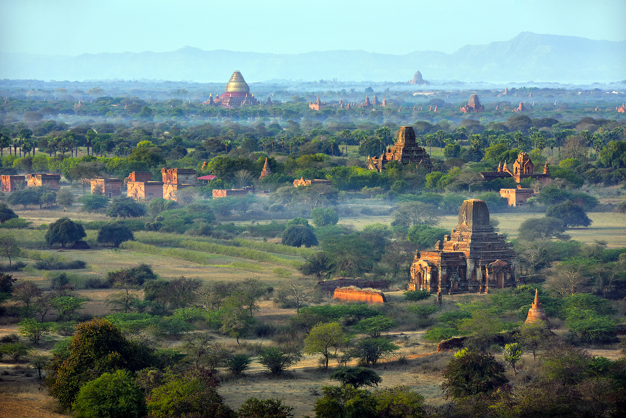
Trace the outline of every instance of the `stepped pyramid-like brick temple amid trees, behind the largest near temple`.
{"label": "stepped pyramid-like brick temple amid trees, behind the largest near temple", "polygon": [[413,126],[402,126],[398,131],[398,140],[393,147],[382,151],[381,156],[367,157],[366,165],[368,170],[376,170],[379,173],[384,170],[389,161],[398,161],[402,165],[409,163],[426,168],[430,173],[433,171],[433,163],[425,148],[419,146],[415,140]]}

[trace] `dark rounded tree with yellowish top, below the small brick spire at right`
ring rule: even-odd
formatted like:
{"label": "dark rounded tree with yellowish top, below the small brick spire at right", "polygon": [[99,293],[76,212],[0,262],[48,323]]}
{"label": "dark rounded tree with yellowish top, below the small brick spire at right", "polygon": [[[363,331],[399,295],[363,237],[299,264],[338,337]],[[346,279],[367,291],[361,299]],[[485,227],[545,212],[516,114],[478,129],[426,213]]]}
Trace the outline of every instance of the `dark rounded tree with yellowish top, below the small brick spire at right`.
{"label": "dark rounded tree with yellowish top, below the small brick spire at right", "polygon": [[446,397],[462,398],[480,393],[489,394],[508,383],[505,368],[492,354],[463,349],[443,370],[441,384]]}

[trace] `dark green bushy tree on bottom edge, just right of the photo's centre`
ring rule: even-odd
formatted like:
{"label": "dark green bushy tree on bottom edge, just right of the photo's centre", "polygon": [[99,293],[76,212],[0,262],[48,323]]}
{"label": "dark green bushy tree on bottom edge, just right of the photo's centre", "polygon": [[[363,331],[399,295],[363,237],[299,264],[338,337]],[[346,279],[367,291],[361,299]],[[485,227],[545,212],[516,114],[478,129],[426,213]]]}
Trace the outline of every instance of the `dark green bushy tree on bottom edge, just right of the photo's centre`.
{"label": "dark green bushy tree on bottom edge, just right of the photo's centre", "polygon": [[316,418],[376,418],[376,399],[366,389],[352,385],[324,386],[314,411]]}

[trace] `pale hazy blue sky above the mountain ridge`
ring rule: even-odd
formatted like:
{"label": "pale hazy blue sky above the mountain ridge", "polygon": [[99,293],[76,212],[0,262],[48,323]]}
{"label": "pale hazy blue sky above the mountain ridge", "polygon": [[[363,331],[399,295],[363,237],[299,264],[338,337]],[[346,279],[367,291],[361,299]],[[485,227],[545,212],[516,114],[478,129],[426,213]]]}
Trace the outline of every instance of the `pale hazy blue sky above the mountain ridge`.
{"label": "pale hazy blue sky above the mountain ridge", "polygon": [[0,51],[452,53],[518,33],[626,39],[626,0],[0,0]]}

